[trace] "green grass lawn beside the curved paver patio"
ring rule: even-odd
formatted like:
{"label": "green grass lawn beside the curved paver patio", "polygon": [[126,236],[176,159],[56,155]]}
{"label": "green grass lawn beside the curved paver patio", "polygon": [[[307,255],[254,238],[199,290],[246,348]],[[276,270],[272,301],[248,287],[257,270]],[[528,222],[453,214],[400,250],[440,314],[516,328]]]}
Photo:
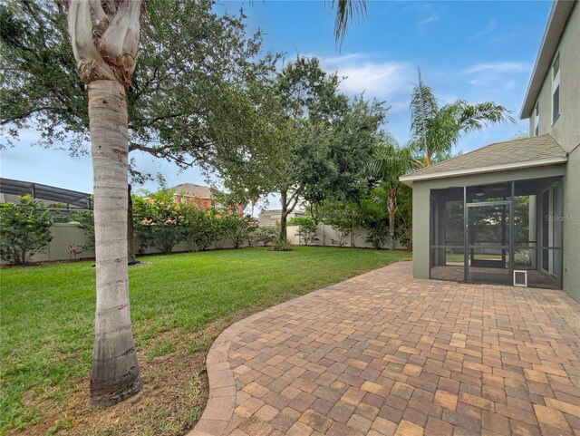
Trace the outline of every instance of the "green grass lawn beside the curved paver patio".
{"label": "green grass lawn beside the curved paver patio", "polygon": [[[409,258],[320,247],[143,257],[146,265],[130,269],[140,359],[207,352],[218,332],[192,333],[223,329],[293,296]],[[42,421],[46,404],[62,406],[71,392],[86,389],[78,385],[91,366],[95,280],[92,262],[5,268],[0,275],[0,434],[6,434]]]}

